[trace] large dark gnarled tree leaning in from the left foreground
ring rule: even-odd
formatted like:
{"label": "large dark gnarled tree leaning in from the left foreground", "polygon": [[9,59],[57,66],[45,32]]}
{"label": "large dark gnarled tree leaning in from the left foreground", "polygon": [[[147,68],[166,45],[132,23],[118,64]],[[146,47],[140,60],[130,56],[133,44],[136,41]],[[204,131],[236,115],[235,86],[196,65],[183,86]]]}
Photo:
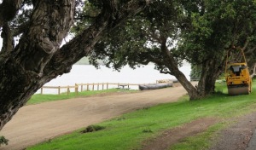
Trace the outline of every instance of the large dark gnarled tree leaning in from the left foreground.
{"label": "large dark gnarled tree leaning in from the left foreground", "polygon": [[[105,33],[142,11],[150,0],[90,0],[98,13],[70,42],[67,36],[79,0],[0,1],[0,130],[45,83],[70,72]],[[19,40],[15,44],[15,38]],[[29,124],[29,123],[28,123]]]}

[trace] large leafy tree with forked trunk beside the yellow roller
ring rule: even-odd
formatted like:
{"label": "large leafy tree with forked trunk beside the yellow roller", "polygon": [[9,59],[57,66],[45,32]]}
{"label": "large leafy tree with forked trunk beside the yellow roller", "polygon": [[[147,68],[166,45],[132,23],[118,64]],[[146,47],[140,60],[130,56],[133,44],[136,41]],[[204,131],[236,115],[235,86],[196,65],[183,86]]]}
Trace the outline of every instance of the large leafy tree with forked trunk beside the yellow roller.
{"label": "large leafy tree with forked trunk beside the yellow roller", "polygon": [[[154,1],[125,28],[116,29],[116,36],[99,41],[90,59],[94,64],[102,59],[115,69],[153,62],[160,72],[174,75],[195,100],[214,92],[228,49],[235,45],[254,52],[255,10],[253,0]],[[196,87],[178,70],[183,60],[201,66]]]}

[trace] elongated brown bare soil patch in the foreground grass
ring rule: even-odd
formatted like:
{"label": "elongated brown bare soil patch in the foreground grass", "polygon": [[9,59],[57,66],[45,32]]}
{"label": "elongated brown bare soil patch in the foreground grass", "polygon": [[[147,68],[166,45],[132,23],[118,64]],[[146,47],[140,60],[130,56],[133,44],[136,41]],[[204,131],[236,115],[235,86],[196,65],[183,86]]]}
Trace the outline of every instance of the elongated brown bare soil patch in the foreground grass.
{"label": "elongated brown bare soil patch in the foreground grass", "polygon": [[189,136],[195,136],[217,122],[216,118],[200,118],[172,130],[165,131],[161,136],[145,141],[143,150],[164,150]]}

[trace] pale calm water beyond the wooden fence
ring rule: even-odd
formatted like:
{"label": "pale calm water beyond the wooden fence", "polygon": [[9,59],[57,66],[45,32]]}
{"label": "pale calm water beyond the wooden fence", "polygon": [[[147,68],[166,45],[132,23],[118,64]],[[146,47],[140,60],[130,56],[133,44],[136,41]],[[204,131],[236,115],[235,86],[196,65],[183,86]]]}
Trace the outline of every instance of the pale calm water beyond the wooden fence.
{"label": "pale calm water beyond the wooden fence", "polygon": [[[182,66],[180,70],[189,78],[190,66]],[[96,69],[90,65],[74,65],[71,72],[51,80],[45,85],[66,86],[74,84],[92,83],[124,83],[124,84],[151,84],[159,79],[175,79],[171,75],[162,74],[154,66],[143,66],[135,70],[125,66],[120,72],[113,71],[106,66]],[[131,87],[137,89],[137,87]],[[63,89],[64,90],[64,89]],[[38,93],[38,92],[37,92]],[[44,93],[55,94],[55,89],[44,89]]]}

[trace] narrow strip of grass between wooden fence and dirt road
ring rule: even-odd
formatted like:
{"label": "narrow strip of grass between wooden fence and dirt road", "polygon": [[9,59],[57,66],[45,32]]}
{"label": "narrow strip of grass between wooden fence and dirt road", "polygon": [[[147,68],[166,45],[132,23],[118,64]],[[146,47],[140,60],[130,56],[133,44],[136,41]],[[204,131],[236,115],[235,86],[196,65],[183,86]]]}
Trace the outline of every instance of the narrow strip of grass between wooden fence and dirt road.
{"label": "narrow strip of grass between wooden fence and dirt road", "polygon": [[61,95],[32,95],[32,98],[26,102],[26,105],[38,104],[47,101],[59,101],[67,100],[75,97],[84,97],[90,95],[101,95],[106,93],[116,93],[116,92],[135,92],[136,90],[124,90],[124,89],[105,89],[105,90],[94,90],[94,91],[83,91],[79,92],[79,95],[76,95],[74,92],[71,92],[69,95],[67,93],[61,93]]}

